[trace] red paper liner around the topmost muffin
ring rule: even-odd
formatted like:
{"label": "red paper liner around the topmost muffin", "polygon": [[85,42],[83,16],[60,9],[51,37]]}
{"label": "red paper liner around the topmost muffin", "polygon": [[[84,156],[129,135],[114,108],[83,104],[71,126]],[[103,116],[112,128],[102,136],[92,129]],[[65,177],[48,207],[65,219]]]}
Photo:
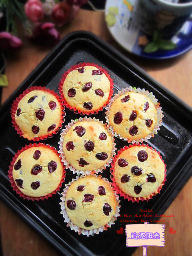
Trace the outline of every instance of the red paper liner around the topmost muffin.
{"label": "red paper liner around the topmost muffin", "polygon": [[[73,106],[71,106],[70,104],[68,104],[68,102],[66,101],[66,99],[65,99],[65,97],[64,97],[64,94],[63,94],[63,83],[64,83],[64,81],[65,81],[65,79],[66,79],[66,76],[72,71],[72,70],[74,70],[74,69],[77,69],[77,68],[82,68],[82,67],[84,67],[84,66],[93,66],[93,67],[96,67],[96,68],[98,68],[100,71],[102,71],[105,75],[106,75],[106,77],[108,78],[108,80],[110,81],[110,91],[109,91],[109,96],[108,96],[108,100],[107,100],[107,102],[102,106],[102,107],[100,107],[98,110],[93,110],[93,111],[83,111],[83,110],[79,110],[78,108],[75,108],[75,107],[73,107]],[[60,83],[59,83],[59,93],[60,93],[60,96],[61,96],[61,98],[62,98],[62,102],[63,102],[63,104],[67,107],[67,108],[69,108],[70,110],[73,110],[74,111],[74,113],[76,113],[76,114],[80,114],[80,115],[88,115],[88,116],[90,116],[91,114],[97,114],[99,111],[102,111],[103,109],[104,109],[104,107],[106,107],[108,104],[109,104],[109,100],[111,99],[111,97],[112,97],[112,95],[113,95],[113,80],[112,80],[112,78],[110,77],[110,75],[108,74],[108,72],[104,69],[104,68],[102,68],[102,67],[100,67],[100,66],[98,66],[97,64],[94,64],[94,63],[80,63],[80,64],[77,64],[77,65],[74,65],[74,66],[72,66],[67,72],[65,72],[63,75],[62,75],[62,78],[61,78],[61,80],[60,80]]]}

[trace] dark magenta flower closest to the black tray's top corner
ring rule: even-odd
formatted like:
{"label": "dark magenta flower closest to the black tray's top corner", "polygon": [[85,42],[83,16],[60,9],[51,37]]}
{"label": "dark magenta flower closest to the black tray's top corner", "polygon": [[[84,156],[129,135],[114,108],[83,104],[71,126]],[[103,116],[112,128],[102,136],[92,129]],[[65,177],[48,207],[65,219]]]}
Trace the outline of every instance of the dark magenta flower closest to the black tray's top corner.
{"label": "dark magenta flower closest to the black tray's top corner", "polygon": [[49,46],[60,41],[60,34],[51,22],[40,23],[34,28],[32,38],[39,43]]}

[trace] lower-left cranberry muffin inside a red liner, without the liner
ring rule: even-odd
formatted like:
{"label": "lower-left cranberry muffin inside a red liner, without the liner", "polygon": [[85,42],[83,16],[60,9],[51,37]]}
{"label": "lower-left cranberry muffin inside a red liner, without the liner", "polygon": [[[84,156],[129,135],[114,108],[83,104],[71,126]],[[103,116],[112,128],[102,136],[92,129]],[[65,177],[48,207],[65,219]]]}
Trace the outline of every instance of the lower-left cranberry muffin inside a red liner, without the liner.
{"label": "lower-left cranberry muffin inside a red liner, without the liner", "polygon": [[58,153],[44,144],[31,144],[20,150],[10,169],[16,191],[28,197],[47,196],[63,181],[63,165]]}

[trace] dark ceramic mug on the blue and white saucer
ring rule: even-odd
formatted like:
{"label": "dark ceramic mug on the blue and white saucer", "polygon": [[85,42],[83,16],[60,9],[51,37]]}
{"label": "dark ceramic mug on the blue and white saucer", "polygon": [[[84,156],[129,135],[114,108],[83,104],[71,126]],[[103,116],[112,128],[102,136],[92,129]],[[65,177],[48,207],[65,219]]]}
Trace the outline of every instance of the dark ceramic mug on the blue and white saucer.
{"label": "dark ceramic mug on the blue and white saucer", "polygon": [[172,38],[184,22],[191,19],[191,14],[192,0],[136,0],[134,5],[134,15],[139,28],[150,35],[158,31],[165,39]]}

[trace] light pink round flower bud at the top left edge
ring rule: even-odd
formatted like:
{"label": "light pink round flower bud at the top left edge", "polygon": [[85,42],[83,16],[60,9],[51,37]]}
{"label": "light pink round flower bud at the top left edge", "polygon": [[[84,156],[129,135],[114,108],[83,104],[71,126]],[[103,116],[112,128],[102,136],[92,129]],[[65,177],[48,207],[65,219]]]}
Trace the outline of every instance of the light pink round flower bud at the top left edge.
{"label": "light pink round flower bud at the top left edge", "polygon": [[32,22],[42,20],[44,16],[42,2],[40,0],[29,0],[25,4],[25,13],[26,13],[26,16]]}

